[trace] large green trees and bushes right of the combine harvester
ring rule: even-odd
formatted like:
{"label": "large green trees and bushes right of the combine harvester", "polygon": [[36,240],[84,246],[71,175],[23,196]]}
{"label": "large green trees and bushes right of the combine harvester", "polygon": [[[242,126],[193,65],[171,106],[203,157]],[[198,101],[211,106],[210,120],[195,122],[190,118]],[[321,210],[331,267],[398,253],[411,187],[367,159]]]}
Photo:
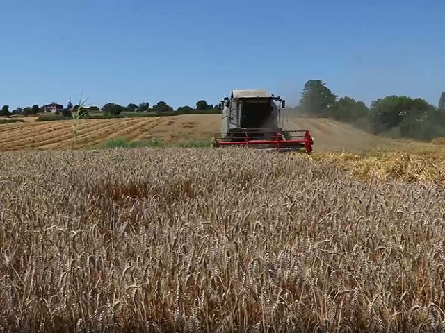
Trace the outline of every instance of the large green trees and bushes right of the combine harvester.
{"label": "large green trees and bushes right of the combine harvester", "polygon": [[293,112],[353,123],[376,135],[419,140],[445,136],[445,92],[437,107],[424,99],[391,95],[376,99],[368,108],[349,96],[339,99],[321,80],[309,80]]}

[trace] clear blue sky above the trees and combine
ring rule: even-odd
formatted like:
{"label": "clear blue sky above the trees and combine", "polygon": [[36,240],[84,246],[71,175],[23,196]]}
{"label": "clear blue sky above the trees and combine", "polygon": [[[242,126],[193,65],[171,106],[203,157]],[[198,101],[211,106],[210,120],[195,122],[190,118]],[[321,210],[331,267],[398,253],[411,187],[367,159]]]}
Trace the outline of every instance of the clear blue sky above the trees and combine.
{"label": "clear blue sky above the trees and combine", "polygon": [[3,0],[0,104],[199,99],[309,79],[369,104],[445,90],[443,0]]}

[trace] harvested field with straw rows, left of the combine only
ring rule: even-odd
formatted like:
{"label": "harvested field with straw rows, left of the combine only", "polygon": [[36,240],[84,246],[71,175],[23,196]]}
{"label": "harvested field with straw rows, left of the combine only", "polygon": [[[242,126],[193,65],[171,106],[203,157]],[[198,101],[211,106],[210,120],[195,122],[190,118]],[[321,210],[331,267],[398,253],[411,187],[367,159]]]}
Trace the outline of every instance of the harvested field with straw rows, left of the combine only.
{"label": "harvested field with straw rows, left of the combine only", "polygon": [[179,117],[83,119],[79,121],[75,141],[72,120],[0,124],[0,151],[66,150],[95,148],[104,142],[125,138],[143,141],[152,137],[165,142],[212,137],[217,130],[218,114],[189,114]]}

